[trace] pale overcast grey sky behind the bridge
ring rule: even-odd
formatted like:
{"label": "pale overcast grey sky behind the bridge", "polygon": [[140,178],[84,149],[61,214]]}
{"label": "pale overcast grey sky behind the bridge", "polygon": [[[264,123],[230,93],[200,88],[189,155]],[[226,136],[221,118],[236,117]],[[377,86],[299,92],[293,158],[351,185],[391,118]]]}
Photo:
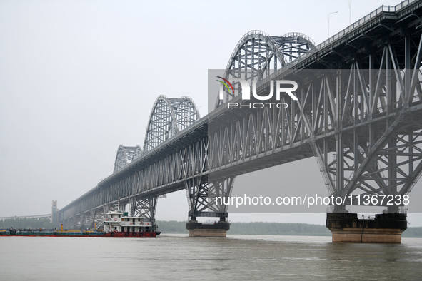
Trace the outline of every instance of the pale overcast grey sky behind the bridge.
{"label": "pale overcast grey sky behind the bridge", "polygon": [[[157,96],[207,108],[207,71],[225,68],[243,34],[302,32],[317,44],[348,25],[349,1],[0,1],[0,216],[36,215],[113,171],[119,144],[143,145]],[[351,21],[398,1],[351,1]],[[279,166],[326,187],[313,158]],[[246,176],[245,176],[246,177]],[[239,178],[239,180],[241,180]],[[239,188],[236,186],[235,188]],[[184,191],[158,220],[185,220]],[[325,214],[231,214],[236,221],[324,223]],[[317,220],[317,221],[316,221]]]}

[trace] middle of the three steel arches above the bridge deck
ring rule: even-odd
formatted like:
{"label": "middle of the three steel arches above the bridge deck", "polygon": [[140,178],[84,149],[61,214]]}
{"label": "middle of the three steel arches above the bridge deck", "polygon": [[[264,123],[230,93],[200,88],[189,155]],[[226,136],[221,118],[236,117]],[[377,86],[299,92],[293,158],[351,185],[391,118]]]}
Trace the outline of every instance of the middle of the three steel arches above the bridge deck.
{"label": "middle of the three steel arches above the bridge deck", "polygon": [[144,141],[144,153],[164,143],[179,131],[199,120],[199,111],[188,96],[159,96],[149,116]]}

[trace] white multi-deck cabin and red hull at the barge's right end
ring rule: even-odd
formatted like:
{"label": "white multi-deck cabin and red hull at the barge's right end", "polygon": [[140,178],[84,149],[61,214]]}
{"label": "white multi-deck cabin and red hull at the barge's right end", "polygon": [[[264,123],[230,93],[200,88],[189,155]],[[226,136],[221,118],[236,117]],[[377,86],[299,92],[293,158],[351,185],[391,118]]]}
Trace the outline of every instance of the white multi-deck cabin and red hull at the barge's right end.
{"label": "white multi-deck cabin and red hull at the barge's right end", "polygon": [[145,217],[130,217],[128,213],[123,213],[119,209],[106,213],[106,218],[98,228],[101,225],[104,225],[106,233],[104,237],[156,237],[161,233],[156,231],[157,225],[147,221]]}

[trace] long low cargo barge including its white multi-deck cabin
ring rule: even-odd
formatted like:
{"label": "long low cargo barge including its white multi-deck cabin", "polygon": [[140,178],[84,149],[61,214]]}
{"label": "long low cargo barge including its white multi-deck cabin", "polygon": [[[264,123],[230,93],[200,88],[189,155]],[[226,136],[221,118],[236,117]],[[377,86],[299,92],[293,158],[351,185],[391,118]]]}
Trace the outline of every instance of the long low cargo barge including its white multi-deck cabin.
{"label": "long low cargo barge including its white multi-deck cabin", "polygon": [[[103,229],[99,230],[101,226]],[[62,225],[60,230],[0,230],[0,236],[149,238],[161,233],[156,228],[157,225],[144,217],[130,217],[120,210],[111,210],[94,230],[63,230]]]}

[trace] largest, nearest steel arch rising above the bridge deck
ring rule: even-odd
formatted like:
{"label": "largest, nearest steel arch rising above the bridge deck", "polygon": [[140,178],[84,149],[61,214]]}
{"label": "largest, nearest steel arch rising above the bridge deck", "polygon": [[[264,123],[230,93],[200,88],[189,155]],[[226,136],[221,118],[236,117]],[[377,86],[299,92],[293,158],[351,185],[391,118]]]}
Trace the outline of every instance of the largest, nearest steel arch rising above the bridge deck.
{"label": "largest, nearest steel arch rising above the bridge deck", "polygon": [[[281,69],[295,58],[308,53],[316,44],[305,34],[292,32],[283,36],[269,36],[263,31],[253,30],[245,34],[228,60],[224,78],[243,78],[252,85],[271,71]],[[239,89],[237,89],[239,90]],[[224,90],[225,91],[225,90]],[[240,91],[235,90],[237,96]],[[233,96],[226,93],[226,98],[216,101],[216,107]]]}

